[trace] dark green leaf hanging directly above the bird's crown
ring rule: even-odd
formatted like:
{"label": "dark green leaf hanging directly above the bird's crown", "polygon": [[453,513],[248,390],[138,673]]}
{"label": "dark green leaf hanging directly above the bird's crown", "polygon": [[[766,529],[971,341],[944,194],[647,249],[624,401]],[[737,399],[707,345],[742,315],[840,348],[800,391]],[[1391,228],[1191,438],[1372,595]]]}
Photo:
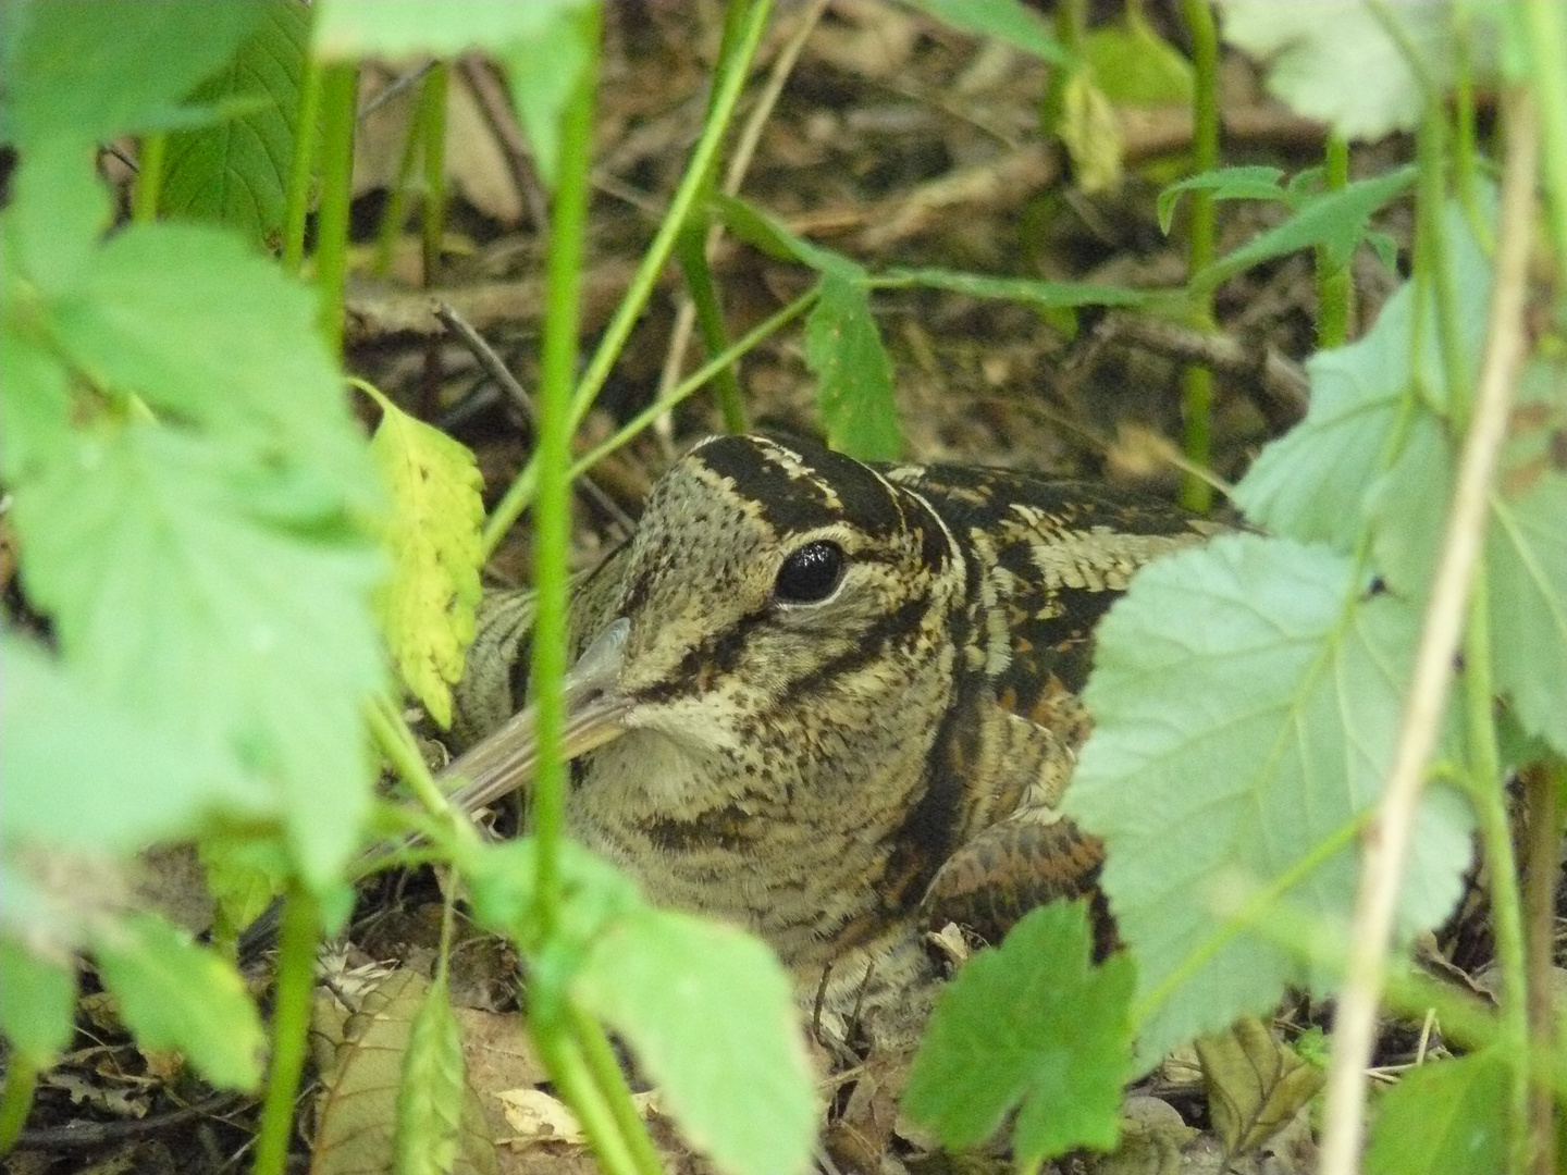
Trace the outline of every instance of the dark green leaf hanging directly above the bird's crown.
{"label": "dark green leaf hanging directly above the bird's crown", "polygon": [[903,434],[892,359],[871,316],[870,293],[848,274],[821,276],[821,298],[805,320],[805,363],[816,376],[827,443],[860,461],[895,461]]}

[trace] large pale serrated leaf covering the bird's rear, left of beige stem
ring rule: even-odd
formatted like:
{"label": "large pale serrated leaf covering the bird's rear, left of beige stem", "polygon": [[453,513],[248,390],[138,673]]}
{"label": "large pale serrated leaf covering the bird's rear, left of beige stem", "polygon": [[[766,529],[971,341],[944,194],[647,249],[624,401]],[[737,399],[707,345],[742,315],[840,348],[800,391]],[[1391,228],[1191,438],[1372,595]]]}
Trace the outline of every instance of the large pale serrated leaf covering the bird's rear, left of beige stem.
{"label": "large pale serrated leaf covering the bird's rear, left of beige stem", "polygon": [[[1255,534],[1152,564],[1102,622],[1095,728],[1064,807],[1106,843],[1144,1061],[1326,982],[1233,906],[1277,890],[1348,918],[1354,833],[1381,797],[1418,628],[1417,606],[1371,592],[1348,558]],[[1401,934],[1457,899],[1470,824],[1453,791],[1428,790]]]}

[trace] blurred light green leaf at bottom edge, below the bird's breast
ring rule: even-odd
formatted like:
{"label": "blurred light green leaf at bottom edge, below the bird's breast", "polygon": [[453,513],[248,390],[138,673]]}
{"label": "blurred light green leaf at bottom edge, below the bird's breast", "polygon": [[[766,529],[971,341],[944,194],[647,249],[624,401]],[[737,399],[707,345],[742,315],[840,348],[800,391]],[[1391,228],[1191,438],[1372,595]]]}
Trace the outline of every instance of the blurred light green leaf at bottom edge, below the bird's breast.
{"label": "blurred light green leaf at bottom edge, below the bird's breast", "polygon": [[793,985],[741,931],[644,907],[572,984],[630,1043],[685,1136],[729,1175],[801,1175],[818,1106]]}

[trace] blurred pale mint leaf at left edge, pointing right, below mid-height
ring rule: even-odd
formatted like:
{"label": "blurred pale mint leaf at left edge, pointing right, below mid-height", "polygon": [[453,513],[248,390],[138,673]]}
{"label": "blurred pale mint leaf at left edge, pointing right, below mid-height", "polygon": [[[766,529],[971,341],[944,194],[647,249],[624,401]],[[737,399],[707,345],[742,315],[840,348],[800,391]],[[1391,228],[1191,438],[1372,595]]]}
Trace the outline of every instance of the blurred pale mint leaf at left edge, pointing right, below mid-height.
{"label": "blurred pale mint leaf at left edge, pointing right, below mid-height", "polygon": [[0,650],[6,840],[130,852],[265,799],[232,757],[94,697],[31,641],[5,630]]}

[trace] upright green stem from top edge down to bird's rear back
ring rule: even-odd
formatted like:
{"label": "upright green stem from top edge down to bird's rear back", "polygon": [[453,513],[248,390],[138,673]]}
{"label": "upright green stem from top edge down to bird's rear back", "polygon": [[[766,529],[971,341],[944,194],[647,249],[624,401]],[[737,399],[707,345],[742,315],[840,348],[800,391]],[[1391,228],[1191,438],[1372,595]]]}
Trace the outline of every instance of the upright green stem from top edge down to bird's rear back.
{"label": "upright green stem from top edge down to bird's rear back", "polygon": [[[1208,0],[1182,0],[1182,14],[1191,34],[1192,60],[1192,171],[1205,172],[1219,166],[1219,33],[1213,24]],[[1191,194],[1188,221],[1186,273],[1196,276],[1213,262],[1214,205],[1213,193]],[[1203,293],[1192,307],[1194,326],[1213,329],[1213,295]],[[1213,371],[1191,365],[1182,374],[1182,415],[1185,417],[1185,451],[1192,465],[1207,468],[1211,457]],[[1188,509],[1207,512],[1213,504],[1213,486],[1186,473],[1180,501]]]}

